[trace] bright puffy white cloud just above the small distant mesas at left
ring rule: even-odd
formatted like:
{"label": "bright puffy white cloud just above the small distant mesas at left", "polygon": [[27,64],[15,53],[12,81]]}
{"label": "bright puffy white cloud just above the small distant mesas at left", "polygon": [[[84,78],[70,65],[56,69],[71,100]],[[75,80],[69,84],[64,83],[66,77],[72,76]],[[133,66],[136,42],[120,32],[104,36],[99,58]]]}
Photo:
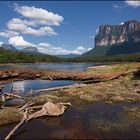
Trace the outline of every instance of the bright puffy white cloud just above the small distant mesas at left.
{"label": "bright puffy white cloud just above the small distant mesas at left", "polygon": [[35,44],[25,41],[22,36],[10,37],[8,42],[16,47],[36,47]]}

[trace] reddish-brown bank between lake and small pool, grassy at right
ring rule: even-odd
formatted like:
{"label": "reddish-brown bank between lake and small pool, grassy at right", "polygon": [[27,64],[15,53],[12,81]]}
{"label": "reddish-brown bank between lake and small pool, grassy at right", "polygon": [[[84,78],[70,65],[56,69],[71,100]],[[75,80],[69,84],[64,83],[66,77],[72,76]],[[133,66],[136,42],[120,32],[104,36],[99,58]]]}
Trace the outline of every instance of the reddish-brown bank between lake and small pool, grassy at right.
{"label": "reddish-brown bank between lake and small pool, grassy at right", "polygon": [[0,71],[0,83],[17,80],[41,79],[41,80],[76,80],[86,83],[101,82],[117,78],[127,73],[135,72],[140,67],[140,63],[112,64],[90,67],[82,71],[60,71],[46,69],[12,69]]}

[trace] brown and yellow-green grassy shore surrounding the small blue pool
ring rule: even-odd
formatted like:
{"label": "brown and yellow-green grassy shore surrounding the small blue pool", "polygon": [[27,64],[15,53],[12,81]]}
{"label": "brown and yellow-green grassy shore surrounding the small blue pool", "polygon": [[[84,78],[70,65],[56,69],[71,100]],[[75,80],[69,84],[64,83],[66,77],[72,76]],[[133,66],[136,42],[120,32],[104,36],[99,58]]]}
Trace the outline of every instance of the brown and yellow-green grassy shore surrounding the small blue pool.
{"label": "brown and yellow-green grassy shore surrounding the small blue pool", "polygon": [[[140,63],[112,64],[105,67],[90,68],[85,72],[58,72],[46,70],[10,70],[0,72],[1,83],[23,79],[74,79],[81,82],[78,87],[67,87],[51,91],[42,91],[39,96],[26,97],[28,101],[34,101],[35,105],[43,105],[46,102],[70,102],[73,107],[81,105],[105,102],[116,104],[120,102],[136,103],[140,101]],[[84,84],[83,84],[84,83]],[[50,91],[49,91],[50,92]],[[1,103],[2,104],[2,103]],[[4,107],[0,109],[0,126],[19,122],[22,118],[18,107]],[[129,115],[140,119],[135,115],[139,109],[125,108]],[[17,113],[15,113],[17,112]]]}

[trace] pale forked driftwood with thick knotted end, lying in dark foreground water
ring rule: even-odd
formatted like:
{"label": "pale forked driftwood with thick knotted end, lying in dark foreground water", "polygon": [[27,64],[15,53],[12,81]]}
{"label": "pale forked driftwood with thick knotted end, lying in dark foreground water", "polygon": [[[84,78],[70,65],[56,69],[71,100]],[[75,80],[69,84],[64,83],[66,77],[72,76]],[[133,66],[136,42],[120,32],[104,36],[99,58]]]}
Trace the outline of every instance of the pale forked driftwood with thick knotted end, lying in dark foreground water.
{"label": "pale forked driftwood with thick knotted end, lying in dark foreground water", "polygon": [[[52,102],[47,102],[45,103],[43,106],[39,105],[39,106],[33,106],[30,107],[31,105],[33,105],[33,102],[29,102],[27,104],[25,104],[22,108],[19,109],[19,111],[24,111],[23,113],[23,118],[20,121],[19,124],[17,124],[14,129],[11,130],[11,132],[8,134],[8,136],[5,138],[5,140],[8,140],[11,138],[12,135],[14,135],[14,133],[16,132],[16,130],[23,125],[23,123],[34,119],[34,118],[38,118],[38,117],[42,117],[42,116],[60,116],[64,113],[65,109],[67,108],[67,106],[71,105],[71,103],[52,103]],[[30,112],[30,110],[32,109],[40,109],[39,111],[36,111],[33,114],[28,114]]]}

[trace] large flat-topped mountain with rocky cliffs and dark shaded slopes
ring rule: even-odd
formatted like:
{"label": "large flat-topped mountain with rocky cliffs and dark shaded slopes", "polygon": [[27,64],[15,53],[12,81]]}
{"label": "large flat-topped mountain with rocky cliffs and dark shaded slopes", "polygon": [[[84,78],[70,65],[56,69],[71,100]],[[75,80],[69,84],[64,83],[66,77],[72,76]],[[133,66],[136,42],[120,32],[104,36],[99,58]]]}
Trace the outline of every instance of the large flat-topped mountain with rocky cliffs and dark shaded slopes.
{"label": "large flat-topped mountain with rocky cliffs and dark shaded slopes", "polygon": [[140,52],[140,22],[130,20],[122,25],[101,25],[95,36],[95,47],[82,56],[106,56]]}

